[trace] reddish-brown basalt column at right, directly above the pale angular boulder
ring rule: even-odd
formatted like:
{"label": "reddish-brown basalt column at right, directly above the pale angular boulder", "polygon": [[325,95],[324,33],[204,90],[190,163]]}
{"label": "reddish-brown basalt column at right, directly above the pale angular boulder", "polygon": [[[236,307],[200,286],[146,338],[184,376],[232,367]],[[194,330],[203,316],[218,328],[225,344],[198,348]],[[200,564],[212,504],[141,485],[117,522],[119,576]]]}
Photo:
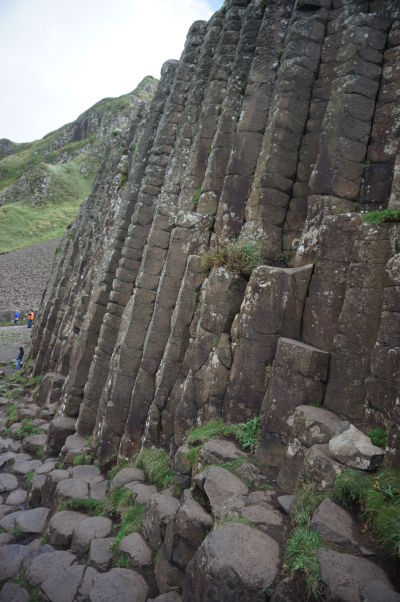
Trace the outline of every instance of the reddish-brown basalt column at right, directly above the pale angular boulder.
{"label": "reddish-brown basalt column at right, directly above the pale angular boulder", "polygon": [[324,408],[358,424],[364,418],[364,381],[381,320],[388,228],[363,224],[358,229],[331,354]]}

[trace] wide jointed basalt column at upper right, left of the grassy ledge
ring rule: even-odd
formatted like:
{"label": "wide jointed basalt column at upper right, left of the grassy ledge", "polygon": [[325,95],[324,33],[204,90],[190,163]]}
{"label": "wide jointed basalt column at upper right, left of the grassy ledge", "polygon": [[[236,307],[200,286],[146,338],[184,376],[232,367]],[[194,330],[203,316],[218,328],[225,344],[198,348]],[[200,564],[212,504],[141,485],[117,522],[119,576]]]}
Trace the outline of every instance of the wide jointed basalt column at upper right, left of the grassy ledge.
{"label": "wide jointed basalt column at upper right, left of the grassy ledge", "polygon": [[356,201],[364,170],[389,20],[359,14],[344,22],[336,79],[323,120],[314,194]]}

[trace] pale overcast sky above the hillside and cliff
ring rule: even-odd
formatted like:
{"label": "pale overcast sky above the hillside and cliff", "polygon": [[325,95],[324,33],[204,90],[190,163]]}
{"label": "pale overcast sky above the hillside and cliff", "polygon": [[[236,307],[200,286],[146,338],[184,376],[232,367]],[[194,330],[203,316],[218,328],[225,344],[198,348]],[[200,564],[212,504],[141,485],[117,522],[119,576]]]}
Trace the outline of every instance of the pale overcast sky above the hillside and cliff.
{"label": "pale overcast sky above the hillside and cliff", "polygon": [[0,0],[0,138],[28,142],[177,59],[223,0]]}

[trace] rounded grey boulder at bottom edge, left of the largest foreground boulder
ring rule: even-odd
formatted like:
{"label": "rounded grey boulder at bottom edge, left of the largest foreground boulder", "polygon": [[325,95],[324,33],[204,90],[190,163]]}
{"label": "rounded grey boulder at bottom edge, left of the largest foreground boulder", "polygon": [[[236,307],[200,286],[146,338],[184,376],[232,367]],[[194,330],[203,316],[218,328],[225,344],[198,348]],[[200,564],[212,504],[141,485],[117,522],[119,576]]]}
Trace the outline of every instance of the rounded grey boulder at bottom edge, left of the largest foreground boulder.
{"label": "rounded grey boulder at bottom edge, left of the largest foreground boulder", "polygon": [[149,587],[141,575],[128,569],[111,569],[93,578],[90,602],[146,602]]}

